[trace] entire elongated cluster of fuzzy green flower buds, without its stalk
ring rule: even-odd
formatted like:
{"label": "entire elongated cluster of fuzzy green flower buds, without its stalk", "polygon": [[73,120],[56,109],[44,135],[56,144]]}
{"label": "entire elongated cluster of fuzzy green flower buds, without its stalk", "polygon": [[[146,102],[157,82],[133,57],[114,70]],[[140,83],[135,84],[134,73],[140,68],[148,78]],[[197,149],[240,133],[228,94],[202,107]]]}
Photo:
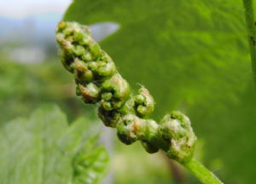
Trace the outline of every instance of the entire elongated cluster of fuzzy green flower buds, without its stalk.
{"label": "entire elongated cluster of fuzzy green flower buds, without its stalk", "polygon": [[148,116],[154,99],[143,86],[131,93],[111,57],[91,37],[87,26],[61,21],[56,31],[61,62],[74,75],[77,95],[84,103],[98,104],[102,122],[117,129],[119,140],[129,145],[141,141],[147,152],[164,150],[170,158],[186,162],[193,156],[196,137],[189,118],[181,112],[167,114],[160,124]]}

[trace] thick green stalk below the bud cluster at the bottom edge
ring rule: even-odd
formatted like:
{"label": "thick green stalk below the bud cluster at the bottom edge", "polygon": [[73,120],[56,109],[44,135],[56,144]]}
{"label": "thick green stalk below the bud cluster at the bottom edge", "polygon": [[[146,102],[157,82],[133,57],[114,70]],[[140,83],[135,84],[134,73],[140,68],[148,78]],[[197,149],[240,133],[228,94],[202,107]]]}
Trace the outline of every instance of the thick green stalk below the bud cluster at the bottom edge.
{"label": "thick green stalk below the bud cluster at the bottom edge", "polygon": [[183,165],[204,184],[223,184],[216,175],[193,158]]}

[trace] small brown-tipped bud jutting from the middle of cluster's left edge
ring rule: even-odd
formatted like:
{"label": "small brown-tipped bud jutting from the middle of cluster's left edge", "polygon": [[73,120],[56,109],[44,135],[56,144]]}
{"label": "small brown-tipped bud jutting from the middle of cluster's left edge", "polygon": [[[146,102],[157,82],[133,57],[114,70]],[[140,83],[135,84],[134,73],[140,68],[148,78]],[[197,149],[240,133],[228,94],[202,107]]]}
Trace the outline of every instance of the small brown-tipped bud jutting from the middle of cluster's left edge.
{"label": "small brown-tipped bud jutting from the middle of cluster's left edge", "polygon": [[88,83],[85,87],[79,83],[78,86],[85,103],[96,103],[99,100],[100,89],[95,83]]}

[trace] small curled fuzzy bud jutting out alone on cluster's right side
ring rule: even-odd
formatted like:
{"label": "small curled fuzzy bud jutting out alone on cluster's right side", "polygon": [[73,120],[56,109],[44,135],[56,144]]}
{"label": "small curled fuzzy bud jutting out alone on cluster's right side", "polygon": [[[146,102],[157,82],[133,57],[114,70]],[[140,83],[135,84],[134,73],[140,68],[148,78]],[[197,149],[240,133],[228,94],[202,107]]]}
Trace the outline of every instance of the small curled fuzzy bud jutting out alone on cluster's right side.
{"label": "small curled fuzzy bud jutting out alone on cluster's right side", "polygon": [[154,111],[154,99],[144,87],[138,90],[135,96],[135,110],[137,116],[146,117]]}

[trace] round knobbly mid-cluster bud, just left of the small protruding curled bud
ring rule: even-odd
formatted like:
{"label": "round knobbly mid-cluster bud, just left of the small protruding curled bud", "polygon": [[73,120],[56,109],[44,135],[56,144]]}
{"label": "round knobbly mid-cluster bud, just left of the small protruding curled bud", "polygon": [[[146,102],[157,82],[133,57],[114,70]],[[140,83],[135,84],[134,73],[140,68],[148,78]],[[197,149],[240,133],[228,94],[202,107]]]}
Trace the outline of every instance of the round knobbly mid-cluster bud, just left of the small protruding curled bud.
{"label": "round knobbly mid-cluster bud, just left of the small protruding curled bud", "polygon": [[105,93],[111,93],[112,97],[107,101],[102,99],[101,106],[104,108],[104,104],[109,102],[111,106],[106,110],[110,111],[119,108],[125,103],[130,95],[130,87],[125,79],[117,73],[102,83],[102,95]]}

